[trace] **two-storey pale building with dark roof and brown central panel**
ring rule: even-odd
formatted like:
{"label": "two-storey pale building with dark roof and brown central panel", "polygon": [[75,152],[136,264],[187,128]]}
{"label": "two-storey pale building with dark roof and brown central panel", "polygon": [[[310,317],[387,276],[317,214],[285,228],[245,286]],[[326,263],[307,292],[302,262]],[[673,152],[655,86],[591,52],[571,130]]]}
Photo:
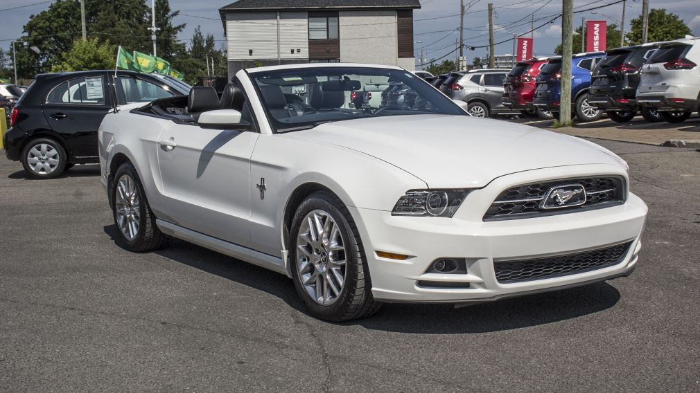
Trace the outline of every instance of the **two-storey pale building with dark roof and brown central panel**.
{"label": "two-storey pale building with dark roof and brown central panel", "polygon": [[414,69],[419,0],[238,0],[219,8],[228,75],[251,66],[358,62]]}

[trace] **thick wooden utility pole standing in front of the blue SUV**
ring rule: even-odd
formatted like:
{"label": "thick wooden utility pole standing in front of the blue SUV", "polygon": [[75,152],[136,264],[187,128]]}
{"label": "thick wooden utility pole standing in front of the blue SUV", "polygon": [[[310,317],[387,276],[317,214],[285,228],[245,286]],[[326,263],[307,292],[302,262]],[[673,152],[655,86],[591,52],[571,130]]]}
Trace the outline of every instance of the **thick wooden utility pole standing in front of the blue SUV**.
{"label": "thick wooden utility pole standing in front of the blue SUV", "polygon": [[571,125],[571,56],[573,55],[573,0],[562,0],[561,6],[561,98],[559,124]]}

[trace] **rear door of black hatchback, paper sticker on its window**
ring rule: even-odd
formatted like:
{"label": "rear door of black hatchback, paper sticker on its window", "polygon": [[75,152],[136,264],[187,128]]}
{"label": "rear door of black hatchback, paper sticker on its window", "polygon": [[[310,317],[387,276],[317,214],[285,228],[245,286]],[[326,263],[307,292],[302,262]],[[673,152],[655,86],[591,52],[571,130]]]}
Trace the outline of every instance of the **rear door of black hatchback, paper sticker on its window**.
{"label": "rear door of black hatchback, paper sticker on its window", "polygon": [[97,129],[112,108],[104,72],[62,80],[42,106],[49,127],[60,134],[76,159],[97,159]]}

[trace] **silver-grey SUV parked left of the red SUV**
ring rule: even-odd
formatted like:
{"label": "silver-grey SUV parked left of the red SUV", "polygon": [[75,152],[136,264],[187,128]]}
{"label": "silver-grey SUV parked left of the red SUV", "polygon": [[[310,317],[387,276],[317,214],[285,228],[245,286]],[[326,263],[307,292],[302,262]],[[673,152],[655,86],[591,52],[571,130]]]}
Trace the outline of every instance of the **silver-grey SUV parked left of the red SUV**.
{"label": "silver-grey SUV parked left of the red SUV", "polygon": [[440,90],[451,99],[468,103],[468,111],[474,117],[492,115],[519,115],[519,110],[503,106],[504,69],[477,69],[451,73]]}

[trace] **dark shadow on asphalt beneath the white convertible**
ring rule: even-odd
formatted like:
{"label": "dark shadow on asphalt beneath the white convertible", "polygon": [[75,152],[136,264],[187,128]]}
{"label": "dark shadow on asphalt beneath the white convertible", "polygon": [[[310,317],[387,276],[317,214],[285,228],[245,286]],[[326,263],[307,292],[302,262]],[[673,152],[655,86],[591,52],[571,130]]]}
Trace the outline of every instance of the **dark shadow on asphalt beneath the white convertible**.
{"label": "dark shadow on asphalt beneath the white convertible", "polygon": [[[114,224],[104,227],[113,241],[116,241],[117,230]],[[297,296],[292,280],[279,273],[176,239],[171,239],[166,248],[155,253],[277,296],[311,317]],[[336,325],[359,325],[365,329],[398,333],[477,334],[533,327],[599,313],[615,306],[619,299],[615,287],[595,283],[463,308],[454,308],[450,304],[385,304],[377,315]]]}

